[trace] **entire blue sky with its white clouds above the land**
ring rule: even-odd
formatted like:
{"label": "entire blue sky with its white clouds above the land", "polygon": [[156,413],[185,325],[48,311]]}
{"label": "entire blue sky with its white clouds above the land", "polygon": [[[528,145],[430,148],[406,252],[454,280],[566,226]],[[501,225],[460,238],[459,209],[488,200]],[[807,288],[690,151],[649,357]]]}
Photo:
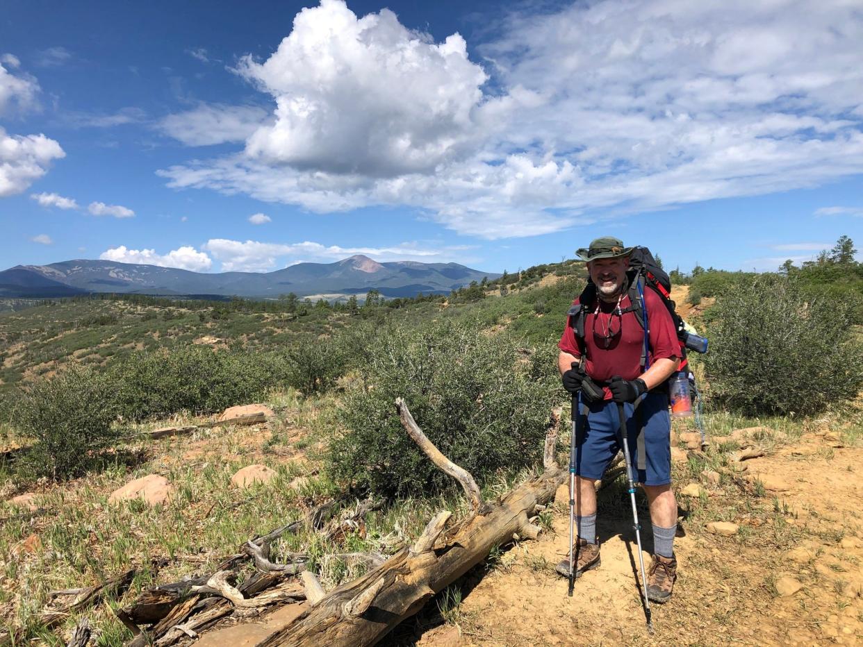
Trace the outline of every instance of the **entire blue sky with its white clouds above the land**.
{"label": "entire blue sky with its white clouds above the land", "polygon": [[853,4],[6,0],[0,265],[863,248]]}

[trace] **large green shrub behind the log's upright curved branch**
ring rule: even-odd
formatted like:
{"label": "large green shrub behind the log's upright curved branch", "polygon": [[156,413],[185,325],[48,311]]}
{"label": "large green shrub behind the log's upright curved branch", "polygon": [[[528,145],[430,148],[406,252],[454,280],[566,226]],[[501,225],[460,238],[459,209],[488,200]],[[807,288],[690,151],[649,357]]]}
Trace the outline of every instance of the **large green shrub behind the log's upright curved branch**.
{"label": "large green shrub behind the log's upright curved branch", "polygon": [[357,380],[364,387],[345,400],[346,430],[330,447],[338,478],[388,497],[453,486],[407,436],[397,397],[431,442],[477,481],[539,460],[560,396],[553,345],[530,353],[509,336],[452,322],[381,330],[370,345]]}

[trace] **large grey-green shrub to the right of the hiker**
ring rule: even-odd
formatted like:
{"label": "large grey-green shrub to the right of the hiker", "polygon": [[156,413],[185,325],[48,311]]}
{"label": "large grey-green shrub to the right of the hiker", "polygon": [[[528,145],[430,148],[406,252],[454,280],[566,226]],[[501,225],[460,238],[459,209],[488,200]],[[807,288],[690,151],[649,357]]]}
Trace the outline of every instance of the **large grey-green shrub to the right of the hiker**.
{"label": "large grey-green shrub to the right of the hiker", "polygon": [[721,293],[710,315],[705,369],[711,396],[728,408],[810,414],[863,386],[847,303],[806,300],[797,280],[762,274]]}

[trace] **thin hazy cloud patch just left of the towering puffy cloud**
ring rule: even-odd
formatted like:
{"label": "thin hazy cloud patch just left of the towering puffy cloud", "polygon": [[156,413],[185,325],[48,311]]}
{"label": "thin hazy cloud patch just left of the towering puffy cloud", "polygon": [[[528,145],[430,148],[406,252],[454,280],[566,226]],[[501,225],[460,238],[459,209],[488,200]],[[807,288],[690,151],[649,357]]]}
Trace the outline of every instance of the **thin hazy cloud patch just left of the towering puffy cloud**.
{"label": "thin hazy cloud patch just left of the towering puffy cloud", "polygon": [[251,105],[200,104],[166,116],[157,128],[186,146],[211,146],[246,141],[267,119],[266,110]]}

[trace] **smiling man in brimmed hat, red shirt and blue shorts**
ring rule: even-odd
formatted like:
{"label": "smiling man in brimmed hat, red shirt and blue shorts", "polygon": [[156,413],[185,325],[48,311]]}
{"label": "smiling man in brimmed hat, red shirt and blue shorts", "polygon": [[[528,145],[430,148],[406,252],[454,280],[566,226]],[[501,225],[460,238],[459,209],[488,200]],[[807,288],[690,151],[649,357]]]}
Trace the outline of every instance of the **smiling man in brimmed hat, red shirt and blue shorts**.
{"label": "smiling man in brimmed hat, red shirt and blue shorts", "polygon": [[[557,344],[564,388],[573,394],[574,405],[580,402],[574,449],[577,538],[571,555],[576,577],[600,565],[594,484],[621,449],[618,403],[623,403],[633,481],[647,495],[653,526],[646,594],[649,600],[663,603],[671,598],[677,576],[668,380],[680,366],[683,352],[671,314],[652,289],[643,290],[647,343],[644,325],[633,311],[633,297],[638,300],[639,292],[629,292],[627,267],[632,250],[613,237],[597,238],[589,248],[578,250],[579,257],[587,261],[595,284],[591,293],[596,298],[583,304],[576,299]],[[584,312],[583,338],[576,335],[572,314],[579,311],[577,305]],[[557,572],[569,576],[570,560],[557,564]]]}

